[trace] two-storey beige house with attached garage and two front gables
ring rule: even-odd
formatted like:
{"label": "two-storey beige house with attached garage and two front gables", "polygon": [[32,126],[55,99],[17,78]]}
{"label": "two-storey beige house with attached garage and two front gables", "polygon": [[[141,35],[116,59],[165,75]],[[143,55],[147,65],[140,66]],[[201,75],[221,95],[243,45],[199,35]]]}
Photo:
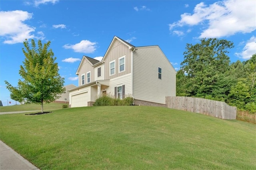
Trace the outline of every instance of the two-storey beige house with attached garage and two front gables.
{"label": "two-storey beige house with attached garage and two front gables", "polygon": [[83,56],[70,107],[92,106],[97,97],[134,98],[135,105],[165,106],[176,95],[176,71],[158,45],[135,47],[114,36],[102,61]]}

